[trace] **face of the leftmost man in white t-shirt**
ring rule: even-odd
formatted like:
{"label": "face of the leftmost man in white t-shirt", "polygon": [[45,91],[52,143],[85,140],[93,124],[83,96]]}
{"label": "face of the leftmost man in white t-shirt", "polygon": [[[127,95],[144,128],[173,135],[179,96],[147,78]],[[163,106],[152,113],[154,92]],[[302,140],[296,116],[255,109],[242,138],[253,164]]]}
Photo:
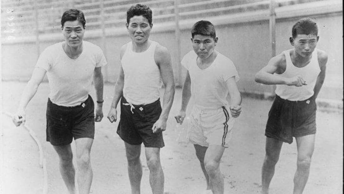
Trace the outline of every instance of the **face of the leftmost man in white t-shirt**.
{"label": "face of the leftmost man in white t-shirt", "polygon": [[85,29],[79,20],[66,21],[63,25],[62,33],[68,46],[78,47],[84,39]]}

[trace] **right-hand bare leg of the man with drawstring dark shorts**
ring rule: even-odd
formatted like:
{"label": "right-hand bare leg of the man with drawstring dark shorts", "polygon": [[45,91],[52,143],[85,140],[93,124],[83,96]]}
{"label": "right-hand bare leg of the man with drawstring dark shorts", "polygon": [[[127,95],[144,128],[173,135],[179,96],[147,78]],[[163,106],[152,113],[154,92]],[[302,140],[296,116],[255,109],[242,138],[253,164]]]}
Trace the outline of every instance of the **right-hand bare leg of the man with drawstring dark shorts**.
{"label": "right-hand bare leg of the man with drawstring dark shorts", "polygon": [[160,148],[145,148],[147,166],[149,168],[149,183],[153,194],[163,194],[164,173],[160,163]]}

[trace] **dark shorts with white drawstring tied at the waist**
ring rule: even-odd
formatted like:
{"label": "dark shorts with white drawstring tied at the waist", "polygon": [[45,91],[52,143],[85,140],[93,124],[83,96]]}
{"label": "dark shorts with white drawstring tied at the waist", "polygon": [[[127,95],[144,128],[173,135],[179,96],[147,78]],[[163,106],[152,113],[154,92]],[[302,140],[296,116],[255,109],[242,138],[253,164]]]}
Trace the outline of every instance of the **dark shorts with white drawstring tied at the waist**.
{"label": "dark shorts with white drawstring tied at the waist", "polygon": [[164,140],[162,132],[153,133],[152,127],[161,114],[160,100],[148,105],[133,105],[131,108],[127,100],[121,97],[121,116],[117,133],[123,141],[139,145],[143,142],[145,147],[162,148]]}

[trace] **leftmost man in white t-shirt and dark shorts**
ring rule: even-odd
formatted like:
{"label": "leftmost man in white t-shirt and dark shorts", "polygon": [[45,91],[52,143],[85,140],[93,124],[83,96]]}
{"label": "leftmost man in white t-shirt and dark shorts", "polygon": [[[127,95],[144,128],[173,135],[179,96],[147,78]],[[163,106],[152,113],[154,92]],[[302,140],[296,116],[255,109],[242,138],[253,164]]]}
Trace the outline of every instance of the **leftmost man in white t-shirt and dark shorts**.
{"label": "leftmost man in white t-shirt and dark shorts", "polygon": [[[47,74],[50,94],[46,111],[46,140],[60,158],[60,172],[69,193],[75,190],[75,169],[71,142],[76,144],[77,182],[79,193],[89,193],[93,172],[90,150],[94,138],[94,122],[103,118],[103,75],[106,59],[100,47],[83,41],[84,13],[77,9],[65,11],[61,30],[65,41],[47,47],[40,55],[31,79],[26,85],[13,121],[25,122],[25,108]],[[97,96],[96,115],[89,95],[93,83]]]}

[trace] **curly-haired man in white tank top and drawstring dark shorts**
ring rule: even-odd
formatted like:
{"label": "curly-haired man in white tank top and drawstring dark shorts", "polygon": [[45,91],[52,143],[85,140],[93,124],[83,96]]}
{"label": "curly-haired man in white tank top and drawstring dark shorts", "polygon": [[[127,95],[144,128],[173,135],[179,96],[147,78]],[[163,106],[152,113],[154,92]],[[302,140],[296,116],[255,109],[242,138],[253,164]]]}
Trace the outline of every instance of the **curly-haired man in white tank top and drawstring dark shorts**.
{"label": "curly-haired man in white tank top and drawstring dark shorts", "polygon": [[[160,148],[164,147],[162,131],[174,96],[171,57],[168,50],[149,39],[152,10],[137,4],[127,10],[127,30],[131,42],[120,50],[120,73],[107,118],[117,120],[119,100],[121,114],[117,133],[123,139],[128,160],[131,193],[140,193],[142,165],[141,143],[145,146],[149,182],[153,194],[162,194],[164,174],[160,164]],[[163,105],[160,105],[161,80],[164,84]]]}

